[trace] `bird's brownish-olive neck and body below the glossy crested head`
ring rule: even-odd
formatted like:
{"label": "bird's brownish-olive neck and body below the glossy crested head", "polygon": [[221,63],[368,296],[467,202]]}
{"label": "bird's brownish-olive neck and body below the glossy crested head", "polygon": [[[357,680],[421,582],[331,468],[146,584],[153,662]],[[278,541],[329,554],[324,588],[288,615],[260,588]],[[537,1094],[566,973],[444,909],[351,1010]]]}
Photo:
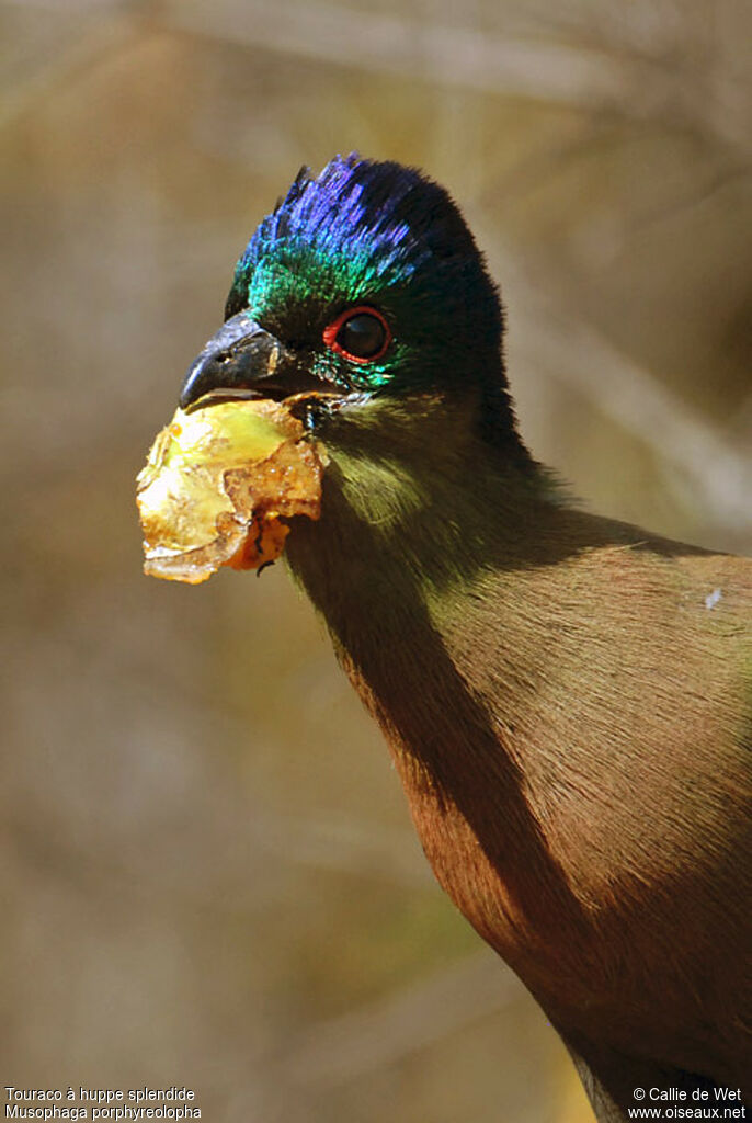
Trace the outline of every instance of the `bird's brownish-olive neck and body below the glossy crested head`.
{"label": "bird's brownish-olive neck and body below the glossy crested head", "polygon": [[565,1039],[586,1061],[598,1043],[622,1102],[662,1069],[737,1086],[752,566],[572,510],[493,456],[484,473],[449,433],[427,459],[428,409],[405,459],[392,432],[365,475],[329,441],[293,570],[384,729],[439,882]]}

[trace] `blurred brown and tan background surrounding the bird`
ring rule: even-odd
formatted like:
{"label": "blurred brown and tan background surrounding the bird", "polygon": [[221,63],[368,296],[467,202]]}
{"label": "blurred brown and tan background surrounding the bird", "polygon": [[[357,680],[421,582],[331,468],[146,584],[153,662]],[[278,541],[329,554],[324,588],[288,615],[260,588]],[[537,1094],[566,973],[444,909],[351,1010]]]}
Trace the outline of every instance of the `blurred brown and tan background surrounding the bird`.
{"label": "blurred brown and tan background surrounding the bird", "polygon": [[2,1084],[217,1123],[587,1123],[277,565],[141,576],[134,477],[299,166],[424,167],[594,509],[752,547],[740,0],[0,0]]}

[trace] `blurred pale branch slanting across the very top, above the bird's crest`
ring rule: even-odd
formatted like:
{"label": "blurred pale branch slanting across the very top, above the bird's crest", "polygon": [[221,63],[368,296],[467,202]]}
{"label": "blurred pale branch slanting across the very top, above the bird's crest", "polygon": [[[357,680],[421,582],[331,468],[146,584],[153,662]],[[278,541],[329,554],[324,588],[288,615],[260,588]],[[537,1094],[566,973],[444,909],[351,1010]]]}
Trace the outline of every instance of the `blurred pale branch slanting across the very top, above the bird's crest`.
{"label": "blurred pale branch slanting across the very top, above the bird's crest", "polygon": [[[625,28],[614,20],[613,34],[598,39],[565,37],[551,25],[545,38],[497,35],[470,26],[429,19],[356,11],[342,4],[287,0],[163,0],[162,18],[183,30],[245,46],[263,47],[337,66],[400,74],[461,85],[488,93],[614,110],[620,117],[673,116],[713,134],[728,147],[749,154],[742,118],[732,127],[719,106],[742,99],[731,67],[708,72],[713,97],[697,97],[682,65],[682,26],[671,27],[668,45],[654,57],[648,45],[635,51]],[[629,30],[629,25],[626,30]],[[355,47],[357,46],[357,49]],[[728,74],[726,74],[728,71]],[[713,80],[713,81],[712,81]],[[716,89],[718,86],[718,89]],[[728,89],[726,89],[728,86]]]}

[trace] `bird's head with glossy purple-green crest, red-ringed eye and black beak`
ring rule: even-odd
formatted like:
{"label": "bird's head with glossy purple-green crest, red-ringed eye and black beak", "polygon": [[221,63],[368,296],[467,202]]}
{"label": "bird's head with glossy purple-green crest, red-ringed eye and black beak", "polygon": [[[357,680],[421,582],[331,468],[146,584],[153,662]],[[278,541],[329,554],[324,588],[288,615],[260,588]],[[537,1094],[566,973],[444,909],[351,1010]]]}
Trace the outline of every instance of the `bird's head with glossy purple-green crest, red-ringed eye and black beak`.
{"label": "bird's head with glossy purple-green crest, red-ringed eye and black beak", "polygon": [[285,400],[325,439],[352,408],[432,398],[519,454],[502,331],[449,194],[400,164],[338,156],[317,177],[303,168],[251,237],[181,405]]}

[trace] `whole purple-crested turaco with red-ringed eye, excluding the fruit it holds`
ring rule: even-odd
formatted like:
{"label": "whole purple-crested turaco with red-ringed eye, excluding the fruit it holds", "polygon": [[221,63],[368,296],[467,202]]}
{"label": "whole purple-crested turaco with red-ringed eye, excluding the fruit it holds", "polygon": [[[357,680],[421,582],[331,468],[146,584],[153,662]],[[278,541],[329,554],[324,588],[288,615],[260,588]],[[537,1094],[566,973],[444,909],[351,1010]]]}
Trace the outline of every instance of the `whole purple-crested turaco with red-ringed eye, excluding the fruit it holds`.
{"label": "whole purple-crested turaco with red-ringed eye, excluding the fruit it holds", "polygon": [[263,219],[181,405],[285,402],[325,448],[286,563],[599,1123],[641,1089],[723,1116],[752,1105],[752,562],[572,499],[504,331],[450,194],[351,153]]}

